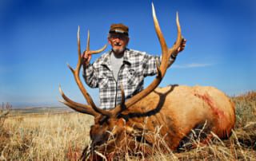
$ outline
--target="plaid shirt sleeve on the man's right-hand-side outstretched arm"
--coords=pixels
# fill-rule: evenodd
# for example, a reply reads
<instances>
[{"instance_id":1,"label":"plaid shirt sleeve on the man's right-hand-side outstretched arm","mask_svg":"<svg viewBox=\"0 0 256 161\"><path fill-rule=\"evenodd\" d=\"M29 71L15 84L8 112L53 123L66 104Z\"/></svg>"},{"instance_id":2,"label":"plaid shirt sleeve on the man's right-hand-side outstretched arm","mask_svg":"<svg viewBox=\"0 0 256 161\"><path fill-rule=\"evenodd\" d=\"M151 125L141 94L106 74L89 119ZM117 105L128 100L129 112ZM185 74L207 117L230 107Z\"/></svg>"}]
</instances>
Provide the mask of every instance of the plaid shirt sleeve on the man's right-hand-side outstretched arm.
<instances>
[{"instance_id":1,"label":"plaid shirt sleeve on the man's right-hand-side outstretched arm","mask_svg":"<svg viewBox=\"0 0 256 161\"><path fill-rule=\"evenodd\" d=\"M161 58L162 57L152 56L149 54L145 55L144 60L142 61L144 77L154 76L155 74L158 73L157 63L160 64ZM174 63L175 60L176 60L176 57L170 57L168 68Z\"/></svg>"}]
</instances>

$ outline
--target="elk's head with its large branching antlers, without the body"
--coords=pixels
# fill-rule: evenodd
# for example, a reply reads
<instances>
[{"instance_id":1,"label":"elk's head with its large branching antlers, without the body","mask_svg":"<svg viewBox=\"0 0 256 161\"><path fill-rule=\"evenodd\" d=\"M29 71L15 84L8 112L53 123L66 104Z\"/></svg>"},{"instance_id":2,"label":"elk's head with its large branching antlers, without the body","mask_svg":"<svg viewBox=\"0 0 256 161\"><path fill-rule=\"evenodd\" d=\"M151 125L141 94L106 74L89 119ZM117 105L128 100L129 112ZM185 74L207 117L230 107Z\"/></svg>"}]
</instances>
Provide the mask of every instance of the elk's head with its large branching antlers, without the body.
<instances>
[{"instance_id":1,"label":"elk's head with its large branching antlers, without the body","mask_svg":"<svg viewBox=\"0 0 256 161\"><path fill-rule=\"evenodd\" d=\"M160 42L161 48L162 48L162 61L160 65L158 65L158 74L155 77L154 81L145 89L142 90L142 92L139 92L137 95L130 98L130 100L125 100L125 94L124 90L122 88L122 103L116 106L115 108L111 110L103 110L102 108L98 108L95 104L88 92L86 91L86 88L82 85L82 81L79 77L79 71L82 66L82 58L81 58L81 49L80 49L80 37L79 37L79 27L78 27L78 65L76 69L72 69L69 66L70 70L74 74L74 79L78 84L78 88L82 92L82 95L85 97L88 104L80 104L78 102L74 102L73 100L70 100L64 92L62 92L62 89L59 88L59 91L62 94L62 100L63 104L66 104L70 108L74 109L77 112L82 112L91 116L94 116L94 125L90 128L90 138L92 139L93 146L101 145L102 143L106 143L110 138L119 139L121 140L122 135L124 135L124 132L130 132L132 131L132 128L130 126L127 126L126 120L122 118L122 113L129 111L129 108L137 103L139 100L142 100L145 96L147 96L150 92L153 92L155 88L158 87L158 84L162 81L162 78L166 74L166 69L169 67L169 60L171 54L175 53L178 49L178 47L182 43L182 33L181 33L181 27L179 25L178 21L178 14L176 16L176 23L178 27L178 36L176 43L173 45L172 48L168 48L166 45L165 38L162 35L162 31L160 29L160 26L158 24L158 19L156 17L155 11L154 11L154 5L152 4L152 12L153 12L153 19L154 19L154 28L158 35L158 40ZM90 50L90 35L88 32L88 38L87 38L87 47L86 50ZM106 49L106 45L99 50L91 51L90 53L100 53L104 49Z\"/></svg>"}]
</instances>

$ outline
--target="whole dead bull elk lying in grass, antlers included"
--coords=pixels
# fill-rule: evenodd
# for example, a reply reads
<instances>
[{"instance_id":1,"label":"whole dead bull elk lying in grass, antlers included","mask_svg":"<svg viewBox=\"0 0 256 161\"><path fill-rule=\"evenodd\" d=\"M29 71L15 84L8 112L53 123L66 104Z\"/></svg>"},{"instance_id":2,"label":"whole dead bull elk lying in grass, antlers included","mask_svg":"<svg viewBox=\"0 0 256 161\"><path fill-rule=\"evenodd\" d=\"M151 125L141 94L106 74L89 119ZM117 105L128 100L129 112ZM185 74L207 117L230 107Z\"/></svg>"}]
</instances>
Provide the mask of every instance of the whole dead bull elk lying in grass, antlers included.
<instances>
[{"instance_id":1,"label":"whole dead bull elk lying in grass, antlers included","mask_svg":"<svg viewBox=\"0 0 256 161\"><path fill-rule=\"evenodd\" d=\"M178 36L176 43L169 49L158 24L153 4L152 12L154 28L162 49L158 74L147 88L129 100L125 99L122 89L122 103L110 110L98 108L80 80L79 71L83 60L78 26L78 64L76 69L68 66L87 104L70 100L61 88L59 90L64 99L63 104L77 112L94 116L94 125L90 128L90 159L99 157L95 151L106 156L113 156L122 150L130 153L138 150L145 154L153 154L156 145L162 149L177 150L186 147L193 137L202 138L202 143L207 143L213 135L226 139L234 128L234 103L217 88L183 85L158 88L169 67L170 55L182 43L182 33L177 14ZM91 53L101 53L104 49L106 45ZM89 32L86 50L90 50ZM155 135L156 132L158 136ZM86 155L85 151L82 159Z\"/></svg>"}]
</instances>

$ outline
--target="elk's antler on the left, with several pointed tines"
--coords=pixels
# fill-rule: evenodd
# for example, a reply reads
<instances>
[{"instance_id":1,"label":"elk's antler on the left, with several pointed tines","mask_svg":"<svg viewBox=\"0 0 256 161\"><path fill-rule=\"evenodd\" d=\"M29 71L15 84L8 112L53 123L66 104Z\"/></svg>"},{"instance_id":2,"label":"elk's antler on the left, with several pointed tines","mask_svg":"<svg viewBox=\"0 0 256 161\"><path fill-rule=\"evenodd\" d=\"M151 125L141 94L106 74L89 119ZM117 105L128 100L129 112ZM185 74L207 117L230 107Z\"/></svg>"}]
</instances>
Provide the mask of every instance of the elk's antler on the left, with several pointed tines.
<instances>
[{"instance_id":1,"label":"elk's antler on the left, with several pointed tines","mask_svg":"<svg viewBox=\"0 0 256 161\"><path fill-rule=\"evenodd\" d=\"M88 31L88 37L87 37L87 46L86 46L86 50L90 51L91 54L94 53L101 53L104 49L106 49L106 45L104 45L102 47L102 49L98 49L95 51L90 51L90 33ZM94 104L94 101L91 99L89 93L86 91L86 88L83 86L82 81L80 80L79 77L79 73L80 73L80 69L82 66L82 57L81 57L81 45L80 45L80 27L78 26L78 64L76 66L76 69L72 69L70 67L70 65L68 65L68 67L70 68L71 72L74 75L74 80L76 81L76 83L78 84L78 88L80 89L80 91L82 92L82 95L86 98L86 101L88 104L90 105L86 105L86 104L79 104L77 102L74 102L73 100L70 100L65 94L64 92L62 92L62 88L59 87L59 92L62 94L62 98L64 99L64 101L61 100L61 102L63 104L66 104L67 106L69 106L70 108L78 111L78 112L82 112L82 113L86 113L86 114L90 114L92 116L98 116L98 113L95 109L98 109L96 107L96 105ZM95 112L95 111L96 112Z\"/></svg>"}]
</instances>

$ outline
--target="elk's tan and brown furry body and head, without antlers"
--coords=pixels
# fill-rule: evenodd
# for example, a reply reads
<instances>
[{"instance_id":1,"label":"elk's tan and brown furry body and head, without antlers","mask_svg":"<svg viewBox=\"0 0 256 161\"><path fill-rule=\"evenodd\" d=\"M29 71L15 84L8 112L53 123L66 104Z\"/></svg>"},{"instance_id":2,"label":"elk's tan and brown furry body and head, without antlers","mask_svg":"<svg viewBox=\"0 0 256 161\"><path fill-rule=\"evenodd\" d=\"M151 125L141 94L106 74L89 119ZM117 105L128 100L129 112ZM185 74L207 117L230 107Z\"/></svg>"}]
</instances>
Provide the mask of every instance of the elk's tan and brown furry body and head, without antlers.
<instances>
[{"instance_id":1,"label":"elk's tan and brown furry body and head, without antlers","mask_svg":"<svg viewBox=\"0 0 256 161\"><path fill-rule=\"evenodd\" d=\"M94 150L111 156L134 150L152 154L154 148L165 150L164 144L177 150L184 147L191 130L197 128L205 132L202 142L211 138L210 132L225 139L230 136L234 122L234 104L217 88L178 85L157 88L118 118L95 118L90 130L91 159Z\"/></svg>"}]
</instances>

